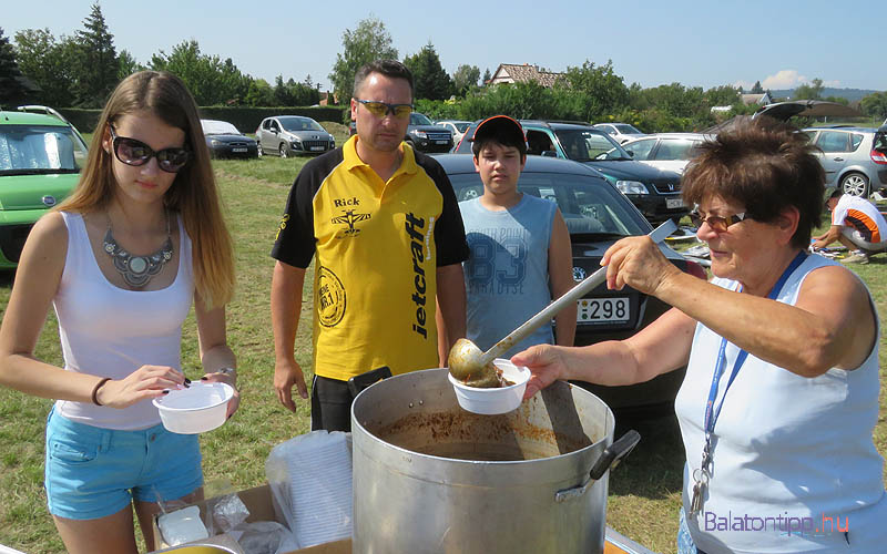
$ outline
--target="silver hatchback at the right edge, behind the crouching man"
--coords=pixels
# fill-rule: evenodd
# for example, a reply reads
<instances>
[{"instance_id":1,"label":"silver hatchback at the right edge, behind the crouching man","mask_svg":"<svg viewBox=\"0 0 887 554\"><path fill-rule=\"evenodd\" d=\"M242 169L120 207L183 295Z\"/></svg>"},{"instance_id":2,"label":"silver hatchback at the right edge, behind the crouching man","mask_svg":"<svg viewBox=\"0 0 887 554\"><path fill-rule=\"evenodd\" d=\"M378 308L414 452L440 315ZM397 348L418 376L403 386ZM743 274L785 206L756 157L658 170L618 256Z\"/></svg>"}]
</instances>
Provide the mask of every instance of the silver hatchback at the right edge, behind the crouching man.
<instances>
[{"instance_id":1,"label":"silver hatchback at the right edge, behind the crouching man","mask_svg":"<svg viewBox=\"0 0 887 554\"><path fill-rule=\"evenodd\" d=\"M887 186L887 172L879 162L881 156L874 148L874 129L808 127L803 132L819 148L817 156L825 170L827 185L840 187L844 194L866 198Z\"/></svg>"}]
</instances>

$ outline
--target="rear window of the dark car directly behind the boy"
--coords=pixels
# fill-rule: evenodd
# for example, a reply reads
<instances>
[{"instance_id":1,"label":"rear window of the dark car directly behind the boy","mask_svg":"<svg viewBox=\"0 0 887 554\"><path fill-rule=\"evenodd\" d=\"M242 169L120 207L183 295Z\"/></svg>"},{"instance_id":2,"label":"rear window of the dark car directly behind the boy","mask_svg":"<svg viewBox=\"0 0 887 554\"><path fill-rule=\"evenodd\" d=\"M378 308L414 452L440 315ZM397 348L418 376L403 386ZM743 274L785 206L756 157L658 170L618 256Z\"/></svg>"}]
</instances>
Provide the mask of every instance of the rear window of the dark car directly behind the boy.
<instances>
[{"instance_id":1,"label":"rear window of the dark car directly behind the boy","mask_svg":"<svg viewBox=\"0 0 887 554\"><path fill-rule=\"evenodd\" d=\"M459 202L483 194L477 173L449 175ZM571 235L592 235L585 239L643 235L648 230L631 203L605 183L569 173L522 173L518 189L558 204Z\"/></svg>"}]
</instances>

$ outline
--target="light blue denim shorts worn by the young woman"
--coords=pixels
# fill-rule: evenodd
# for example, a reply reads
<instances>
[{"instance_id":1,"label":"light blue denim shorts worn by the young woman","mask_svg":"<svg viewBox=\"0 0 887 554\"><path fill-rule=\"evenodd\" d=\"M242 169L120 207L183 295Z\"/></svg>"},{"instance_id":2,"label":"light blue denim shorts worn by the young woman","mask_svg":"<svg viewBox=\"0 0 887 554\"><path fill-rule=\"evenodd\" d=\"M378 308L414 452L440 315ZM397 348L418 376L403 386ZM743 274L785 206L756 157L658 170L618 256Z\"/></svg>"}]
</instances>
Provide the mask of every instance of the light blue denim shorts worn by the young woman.
<instances>
[{"instance_id":1,"label":"light blue denim shorts worn by the young woman","mask_svg":"<svg viewBox=\"0 0 887 554\"><path fill-rule=\"evenodd\" d=\"M203 485L196 434L176 434L162 424L115 431L47 418L47 501L51 514L95 520L126 507L133 499L181 499Z\"/></svg>"}]
</instances>

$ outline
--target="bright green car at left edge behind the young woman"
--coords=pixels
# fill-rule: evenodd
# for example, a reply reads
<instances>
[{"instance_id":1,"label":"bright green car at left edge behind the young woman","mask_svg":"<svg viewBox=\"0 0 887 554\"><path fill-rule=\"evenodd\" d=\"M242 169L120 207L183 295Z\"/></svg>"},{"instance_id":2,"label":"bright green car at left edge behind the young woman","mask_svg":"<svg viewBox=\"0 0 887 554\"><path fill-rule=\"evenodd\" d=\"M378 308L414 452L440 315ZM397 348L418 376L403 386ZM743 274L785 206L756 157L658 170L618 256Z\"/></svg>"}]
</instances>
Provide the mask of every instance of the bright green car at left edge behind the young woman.
<instances>
[{"instance_id":1,"label":"bright green car at left edge behind the young woman","mask_svg":"<svg viewBox=\"0 0 887 554\"><path fill-rule=\"evenodd\" d=\"M55 110L0 110L0 269L18 266L31 227L73 191L85 163L85 141Z\"/></svg>"}]
</instances>

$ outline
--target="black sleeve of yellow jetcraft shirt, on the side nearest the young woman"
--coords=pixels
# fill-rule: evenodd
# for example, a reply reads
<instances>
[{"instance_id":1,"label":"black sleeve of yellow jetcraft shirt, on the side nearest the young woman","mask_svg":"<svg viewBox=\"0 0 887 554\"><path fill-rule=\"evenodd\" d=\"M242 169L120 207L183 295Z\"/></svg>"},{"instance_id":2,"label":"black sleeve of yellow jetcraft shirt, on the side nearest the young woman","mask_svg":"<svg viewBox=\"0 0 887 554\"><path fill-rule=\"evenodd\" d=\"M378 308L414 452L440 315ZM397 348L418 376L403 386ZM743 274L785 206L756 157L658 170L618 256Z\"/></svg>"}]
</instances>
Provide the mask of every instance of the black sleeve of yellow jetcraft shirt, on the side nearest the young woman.
<instances>
[{"instance_id":1,"label":"black sleeve of yellow jetcraft shirt, on the side nearest the young woman","mask_svg":"<svg viewBox=\"0 0 887 554\"><path fill-rule=\"evenodd\" d=\"M336 148L305 164L289 189L286 208L277 228L271 256L293 267L307 268L314 257L314 195L324 179L341 162Z\"/></svg>"}]
</instances>

